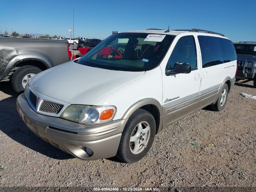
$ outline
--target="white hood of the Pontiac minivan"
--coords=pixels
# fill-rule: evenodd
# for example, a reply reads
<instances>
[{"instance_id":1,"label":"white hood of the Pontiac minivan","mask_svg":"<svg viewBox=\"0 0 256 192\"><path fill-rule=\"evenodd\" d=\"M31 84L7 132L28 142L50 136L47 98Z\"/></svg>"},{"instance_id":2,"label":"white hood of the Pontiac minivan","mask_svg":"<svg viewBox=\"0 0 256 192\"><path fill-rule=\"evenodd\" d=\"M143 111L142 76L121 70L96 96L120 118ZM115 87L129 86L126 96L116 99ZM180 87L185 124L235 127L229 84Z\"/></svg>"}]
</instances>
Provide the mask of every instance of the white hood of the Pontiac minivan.
<instances>
[{"instance_id":1,"label":"white hood of the Pontiac minivan","mask_svg":"<svg viewBox=\"0 0 256 192\"><path fill-rule=\"evenodd\" d=\"M105 94L144 74L145 71L114 71L70 61L38 73L29 86L70 104L92 105Z\"/></svg>"}]
</instances>

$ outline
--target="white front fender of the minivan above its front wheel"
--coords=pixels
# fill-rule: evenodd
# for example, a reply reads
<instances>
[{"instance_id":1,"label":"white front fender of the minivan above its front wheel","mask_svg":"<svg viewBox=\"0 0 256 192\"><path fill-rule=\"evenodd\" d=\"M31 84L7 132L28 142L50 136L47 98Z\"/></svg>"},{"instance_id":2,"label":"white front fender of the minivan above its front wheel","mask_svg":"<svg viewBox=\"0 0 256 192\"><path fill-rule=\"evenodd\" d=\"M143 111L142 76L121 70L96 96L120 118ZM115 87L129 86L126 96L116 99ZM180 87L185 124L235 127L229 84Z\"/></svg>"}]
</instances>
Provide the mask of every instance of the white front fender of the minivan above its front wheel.
<instances>
[{"instance_id":1,"label":"white front fender of the minivan above its front wheel","mask_svg":"<svg viewBox=\"0 0 256 192\"><path fill-rule=\"evenodd\" d=\"M162 103L163 86L161 76L162 72L159 66L146 71L140 78L109 92L93 105L116 106L117 112L113 120L117 120L121 119L130 106L141 99L154 98L159 103Z\"/></svg>"}]
</instances>

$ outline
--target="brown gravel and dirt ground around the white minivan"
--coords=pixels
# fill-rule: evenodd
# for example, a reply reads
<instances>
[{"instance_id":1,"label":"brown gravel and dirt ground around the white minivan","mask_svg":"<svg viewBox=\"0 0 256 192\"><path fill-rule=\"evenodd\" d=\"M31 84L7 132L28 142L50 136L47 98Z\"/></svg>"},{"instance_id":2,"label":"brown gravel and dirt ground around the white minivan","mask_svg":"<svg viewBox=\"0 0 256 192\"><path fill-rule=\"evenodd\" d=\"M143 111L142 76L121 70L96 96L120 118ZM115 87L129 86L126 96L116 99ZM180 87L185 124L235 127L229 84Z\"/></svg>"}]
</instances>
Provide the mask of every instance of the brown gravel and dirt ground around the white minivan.
<instances>
[{"instance_id":1,"label":"brown gravel and dirt ground around the white minivan","mask_svg":"<svg viewBox=\"0 0 256 192\"><path fill-rule=\"evenodd\" d=\"M9 87L0 83L0 186L256 187L256 100L240 95L256 95L251 81L236 83L223 111L206 107L165 127L134 164L82 161L46 143L20 119Z\"/></svg>"}]
</instances>

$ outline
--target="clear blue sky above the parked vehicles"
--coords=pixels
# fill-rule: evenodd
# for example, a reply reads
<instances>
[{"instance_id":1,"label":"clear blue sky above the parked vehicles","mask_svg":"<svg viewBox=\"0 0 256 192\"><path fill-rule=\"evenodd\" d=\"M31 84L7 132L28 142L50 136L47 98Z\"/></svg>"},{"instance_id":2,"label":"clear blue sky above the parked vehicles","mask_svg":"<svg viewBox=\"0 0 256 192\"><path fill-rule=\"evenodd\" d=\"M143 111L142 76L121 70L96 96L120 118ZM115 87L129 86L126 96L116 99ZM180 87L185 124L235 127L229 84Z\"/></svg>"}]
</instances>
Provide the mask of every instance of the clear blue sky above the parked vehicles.
<instances>
[{"instance_id":1,"label":"clear blue sky above the parked vehicles","mask_svg":"<svg viewBox=\"0 0 256 192\"><path fill-rule=\"evenodd\" d=\"M256 0L0 0L0 29L19 34L39 33L106 38L112 31L147 28L205 29L232 41L256 41ZM72 35L73 36L73 35Z\"/></svg>"}]
</instances>

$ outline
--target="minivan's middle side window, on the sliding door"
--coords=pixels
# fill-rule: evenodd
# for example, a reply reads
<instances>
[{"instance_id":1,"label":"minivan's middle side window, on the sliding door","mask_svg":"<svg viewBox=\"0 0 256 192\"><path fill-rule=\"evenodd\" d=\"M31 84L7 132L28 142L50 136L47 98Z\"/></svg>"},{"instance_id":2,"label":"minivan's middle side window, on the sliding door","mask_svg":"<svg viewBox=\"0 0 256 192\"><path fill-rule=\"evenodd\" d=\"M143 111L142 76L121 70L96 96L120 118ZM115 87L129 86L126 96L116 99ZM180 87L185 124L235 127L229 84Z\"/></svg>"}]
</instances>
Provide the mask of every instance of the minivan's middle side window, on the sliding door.
<instances>
[{"instance_id":1,"label":"minivan's middle side window, on the sliding door","mask_svg":"<svg viewBox=\"0 0 256 192\"><path fill-rule=\"evenodd\" d=\"M203 68L222 64L224 62L221 44L218 39L218 37L198 36Z\"/></svg>"}]
</instances>

